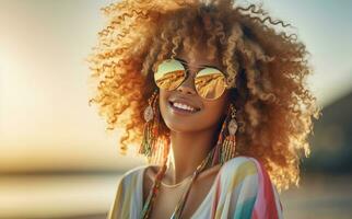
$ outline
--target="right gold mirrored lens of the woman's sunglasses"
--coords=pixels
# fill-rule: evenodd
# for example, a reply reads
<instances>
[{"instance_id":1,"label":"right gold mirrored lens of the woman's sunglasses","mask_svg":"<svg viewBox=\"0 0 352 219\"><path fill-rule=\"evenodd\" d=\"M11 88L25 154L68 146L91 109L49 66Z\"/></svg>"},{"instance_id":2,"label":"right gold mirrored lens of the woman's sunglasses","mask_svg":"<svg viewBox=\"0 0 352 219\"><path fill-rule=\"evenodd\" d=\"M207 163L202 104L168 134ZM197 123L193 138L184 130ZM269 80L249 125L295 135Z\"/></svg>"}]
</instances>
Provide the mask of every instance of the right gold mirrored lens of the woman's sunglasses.
<instances>
[{"instance_id":1,"label":"right gold mirrored lens of the woman's sunglasses","mask_svg":"<svg viewBox=\"0 0 352 219\"><path fill-rule=\"evenodd\" d=\"M215 100L225 90L225 76L215 68L206 68L197 73L195 85L200 96L207 100Z\"/></svg>"}]
</instances>

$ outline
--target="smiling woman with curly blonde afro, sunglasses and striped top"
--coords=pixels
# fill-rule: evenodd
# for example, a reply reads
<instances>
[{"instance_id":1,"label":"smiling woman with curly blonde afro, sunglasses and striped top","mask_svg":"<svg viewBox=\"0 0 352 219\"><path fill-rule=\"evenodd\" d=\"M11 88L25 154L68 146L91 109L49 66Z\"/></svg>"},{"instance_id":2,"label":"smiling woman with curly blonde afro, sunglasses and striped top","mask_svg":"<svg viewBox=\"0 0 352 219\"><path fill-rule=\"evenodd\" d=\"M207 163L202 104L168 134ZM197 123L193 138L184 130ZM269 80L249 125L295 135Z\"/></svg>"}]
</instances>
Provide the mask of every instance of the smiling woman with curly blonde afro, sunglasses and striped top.
<instances>
[{"instance_id":1,"label":"smiling woman with curly blonde afro, sunglasses and striped top","mask_svg":"<svg viewBox=\"0 0 352 219\"><path fill-rule=\"evenodd\" d=\"M125 0L90 58L91 102L148 165L118 183L108 218L283 218L316 100L305 46L232 0Z\"/></svg>"}]
</instances>

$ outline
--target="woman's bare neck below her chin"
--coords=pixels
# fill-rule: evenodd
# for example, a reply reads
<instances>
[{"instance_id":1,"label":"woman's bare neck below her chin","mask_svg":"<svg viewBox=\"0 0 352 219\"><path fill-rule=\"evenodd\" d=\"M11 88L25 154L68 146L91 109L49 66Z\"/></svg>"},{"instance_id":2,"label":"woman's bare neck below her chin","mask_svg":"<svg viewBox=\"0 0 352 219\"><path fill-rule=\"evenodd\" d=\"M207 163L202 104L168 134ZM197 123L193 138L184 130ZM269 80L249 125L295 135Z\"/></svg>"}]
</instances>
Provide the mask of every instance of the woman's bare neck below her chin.
<instances>
[{"instance_id":1,"label":"woman's bare neck below her chin","mask_svg":"<svg viewBox=\"0 0 352 219\"><path fill-rule=\"evenodd\" d=\"M176 184L191 175L214 147L215 130L171 131L171 154L164 181Z\"/></svg>"}]
</instances>

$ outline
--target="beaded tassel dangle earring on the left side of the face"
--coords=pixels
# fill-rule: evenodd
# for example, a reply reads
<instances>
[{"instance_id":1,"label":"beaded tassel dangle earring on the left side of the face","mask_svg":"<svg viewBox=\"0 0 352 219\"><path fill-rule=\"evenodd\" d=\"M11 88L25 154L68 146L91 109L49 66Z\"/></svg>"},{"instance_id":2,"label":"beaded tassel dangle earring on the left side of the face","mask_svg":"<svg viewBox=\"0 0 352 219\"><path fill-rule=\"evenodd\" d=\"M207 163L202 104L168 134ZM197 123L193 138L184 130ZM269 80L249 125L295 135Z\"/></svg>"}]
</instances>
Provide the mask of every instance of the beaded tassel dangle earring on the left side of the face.
<instances>
[{"instance_id":1,"label":"beaded tassel dangle earring on the left side of the face","mask_svg":"<svg viewBox=\"0 0 352 219\"><path fill-rule=\"evenodd\" d=\"M139 149L139 153L148 157L151 162L152 157L155 154L157 130L159 130L159 111L157 111L157 91L154 91L152 96L148 100L148 106L144 110L144 129L143 140Z\"/></svg>"}]
</instances>

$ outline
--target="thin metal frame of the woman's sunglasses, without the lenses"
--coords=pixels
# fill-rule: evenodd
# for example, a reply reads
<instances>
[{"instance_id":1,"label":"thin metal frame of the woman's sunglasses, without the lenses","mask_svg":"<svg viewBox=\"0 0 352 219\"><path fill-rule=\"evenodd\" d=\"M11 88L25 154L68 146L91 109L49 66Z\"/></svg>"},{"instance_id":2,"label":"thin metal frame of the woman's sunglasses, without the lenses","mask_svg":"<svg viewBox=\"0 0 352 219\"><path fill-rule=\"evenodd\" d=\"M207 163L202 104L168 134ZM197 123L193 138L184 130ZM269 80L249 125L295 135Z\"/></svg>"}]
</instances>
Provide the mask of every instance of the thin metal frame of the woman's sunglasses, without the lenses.
<instances>
[{"instance_id":1,"label":"thin metal frame of the woman's sunglasses, without the lenses","mask_svg":"<svg viewBox=\"0 0 352 219\"><path fill-rule=\"evenodd\" d=\"M187 79L188 79L188 77L190 77L190 73L189 73L189 68L188 67L197 67L198 68L198 70L197 70L197 72L195 73L195 76L192 77L192 79L193 79L193 85L195 85L195 88L197 88L196 87L196 78L197 78L197 74L200 72L200 71L202 71L202 70L204 70L204 69L207 69L207 68L210 68L210 69L216 69L218 71L220 71L222 74L223 74L223 77L224 77L224 83L225 83L225 85L224 85L224 90L223 90L223 92L218 96L218 97L215 97L215 99L206 99L206 97L203 97L202 95L200 95L199 93L198 93L198 90L196 89L196 92L197 92L197 94L200 96L200 97L202 97L203 100L207 100L207 101L214 101L214 100L218 100L218 99L220 99L223 94L224 94L224 92L225 92L225 90L228 90L228 89L232 89L232 88L235 88L234 85L232 85L232 83L233 83L233 78L231 78L231 77L228 77L226 73L224 73L222 70L220 70L218 67L214 67L214 66L204 66L204 67L199 67L199 66L190 66L190 65L188 65L187 62L185 62L185 61L183 61L183 60L180 60L180 59L178 59L178 58L168 58L168 59L164 59L163 61L161 61L159 65L157 65L157 68L159 68L159 66L161 65L161 64L163 64L164 61L167 61L167 60L175 60L175 61L178 61L178 62L180 62L181 65L183 65L183 67L185 68L185 73L186 73L186 77L183 79L183 81L175 88L175 89L173 89L173 90L167 90L167 91L175 91L177 88L179 88ZM156 68L156 69L157 69ZM155 81L155 84L157 85L157 83L156 83L156 80L155 80L155 77L154 77L154 81ZM160 88L159 85L157 85L157 88ZM160 88L160 89L162 89L162 88Z\"/></svg>"}]
</instances>

